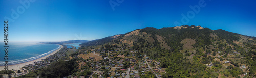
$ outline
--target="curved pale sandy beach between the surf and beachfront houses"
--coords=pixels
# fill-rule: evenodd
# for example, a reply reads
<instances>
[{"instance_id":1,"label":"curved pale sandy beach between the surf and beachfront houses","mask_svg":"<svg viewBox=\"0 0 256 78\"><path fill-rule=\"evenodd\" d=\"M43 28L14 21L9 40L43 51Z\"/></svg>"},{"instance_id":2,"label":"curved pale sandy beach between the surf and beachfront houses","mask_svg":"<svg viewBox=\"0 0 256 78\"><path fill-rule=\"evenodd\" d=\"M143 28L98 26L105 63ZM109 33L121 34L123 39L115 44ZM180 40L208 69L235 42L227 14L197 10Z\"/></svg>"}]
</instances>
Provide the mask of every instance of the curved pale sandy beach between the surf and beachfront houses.
<instances>
[{"instance_id":1,"label":"curved pale sandy beach between the surf and beachfront houses","mask_svg":"<svg viewBox=\"0 0 256 78\"><path fill-rule=\"evenodd\" d=\"M55 51L53 51L51 54L48 54L48 55L46 55L44 57L38 58L38 59L33 60L33 61L29 61L29 62L25 62L25 63L20 63L20 64L16 64L16 65L8 65L8 70L12 70L12 69L13 70L19 70L20 68L22 68L22 67L24 67L24 66L26 66L28 64L34 64L34 62L41 61L42 59L45 59L46 57L57 53L61 48L63 48L62 45L60 45L60 48L55 50ZM5 68L4 66L0 66L0 70L4 70L4 68Z\"/></svg>"}]
</instances>

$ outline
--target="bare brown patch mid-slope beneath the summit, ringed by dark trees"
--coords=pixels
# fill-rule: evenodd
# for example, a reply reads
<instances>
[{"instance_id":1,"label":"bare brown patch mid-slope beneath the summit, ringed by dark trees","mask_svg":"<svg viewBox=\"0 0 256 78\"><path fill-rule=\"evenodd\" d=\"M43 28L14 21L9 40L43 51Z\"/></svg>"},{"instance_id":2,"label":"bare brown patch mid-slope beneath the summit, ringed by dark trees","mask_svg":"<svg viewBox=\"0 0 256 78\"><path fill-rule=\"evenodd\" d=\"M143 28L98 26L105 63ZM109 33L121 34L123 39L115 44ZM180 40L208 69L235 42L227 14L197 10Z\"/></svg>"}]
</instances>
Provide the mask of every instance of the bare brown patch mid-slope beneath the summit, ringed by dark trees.
<instances>
[{"instance_id":1,"label":"bare brown patch mid-slope beneath the summit, ringed by dark trees","mask_svg":"<svg viewBox=\"0 0 256 78\"><path fill-rule=\"evenodd\" d=\"M183 49L192 49L193 48L192 45L195 44L196 41L191 38L186 38L182 40L180 43L184 44Z\"/></svg>"}]
</instances>

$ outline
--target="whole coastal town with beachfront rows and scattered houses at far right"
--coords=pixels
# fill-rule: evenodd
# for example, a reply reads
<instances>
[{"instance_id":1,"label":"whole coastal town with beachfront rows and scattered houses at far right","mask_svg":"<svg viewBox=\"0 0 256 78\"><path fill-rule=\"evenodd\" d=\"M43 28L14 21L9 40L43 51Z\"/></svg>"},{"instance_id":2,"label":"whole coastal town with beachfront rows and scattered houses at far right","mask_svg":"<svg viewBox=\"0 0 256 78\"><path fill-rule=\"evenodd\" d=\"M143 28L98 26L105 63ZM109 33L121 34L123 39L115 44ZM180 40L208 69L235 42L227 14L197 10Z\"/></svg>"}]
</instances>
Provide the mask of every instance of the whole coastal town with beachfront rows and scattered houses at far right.
<instances>
[{"instance_id":1,"label":"whole coastal town with beachfront rows and scattered houses at far right","mask_svg":"<svg viewBox=\"0 0 256 78\"><path fill-rule=\"evenodd\" d=\"M29 72L34 72L41 70L44 67L48 67L51 63L61 60L71 60L77 59L77 72L76 75L69 75L71 78L85 78L85 77L145 77L145 76L154 76L157 78L162 77L162 74L166 73L166 68L162 68L161 61L156 61L148 57L147 55L137 55L138 50L132 50L130 47L124 46L112 46L100 47L100 48L82 48L76 50L75 47L67 48L66 45L62 45L63 48L60 49L54 55L51 55L41 61L34 62L34 64L29 64L22 67L20 70L12 70L14 73L4 74L3 77L18 77L21 75L26 75ZM70 53L70 51L73 52ZM218 54L222 52L219 51ZM68 54L68 55L67 55ZM208 54L209 56L215 57ZM234 54L229 54L234 55ZM240 55L240 54L235 54ZM218 58L222 58L224 55L216 55ZM229 57L234 58L234 57ZM240 59L240 58L238 58ZM215 58L214 60L220 61L220 59ZM230 60L223 60L221 63L225 66L233 65ZM207 68L216 67L216 64L206 64ZM247 66L242 65L240 69L245 70ZM84 75L80 73L85 73L90 71L89 74ZM247 75L247 73L240 75L241 77ZM38 76L39 77L39 76Z\"/></svg>"}]
</instances>

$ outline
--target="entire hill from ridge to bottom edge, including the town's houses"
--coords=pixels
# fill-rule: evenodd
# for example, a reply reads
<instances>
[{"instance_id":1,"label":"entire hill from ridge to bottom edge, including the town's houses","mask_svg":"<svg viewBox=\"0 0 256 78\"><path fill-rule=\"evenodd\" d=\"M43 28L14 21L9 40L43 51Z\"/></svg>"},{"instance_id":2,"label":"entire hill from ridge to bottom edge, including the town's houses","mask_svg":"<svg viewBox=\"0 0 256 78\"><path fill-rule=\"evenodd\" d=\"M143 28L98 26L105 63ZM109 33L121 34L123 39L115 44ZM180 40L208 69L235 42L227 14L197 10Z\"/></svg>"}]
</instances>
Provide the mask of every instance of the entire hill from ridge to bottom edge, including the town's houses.
<instances>
[{"instance_id":1,"label":"entire hill from ridge to bottom edge, including the town's houses","mask_svg":"<svg viewBox=\"0 0 256 78\"><path fill-rule=\"evenodd\" d=\"M144 28L80 46L76 53L30 74L40 77L121 77L120 74L142 78L256 77L255 37L221 29L194 25Z\"/></svg>"}]
</instances>

